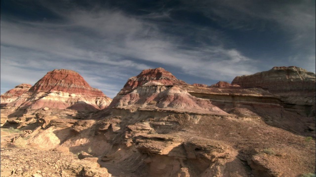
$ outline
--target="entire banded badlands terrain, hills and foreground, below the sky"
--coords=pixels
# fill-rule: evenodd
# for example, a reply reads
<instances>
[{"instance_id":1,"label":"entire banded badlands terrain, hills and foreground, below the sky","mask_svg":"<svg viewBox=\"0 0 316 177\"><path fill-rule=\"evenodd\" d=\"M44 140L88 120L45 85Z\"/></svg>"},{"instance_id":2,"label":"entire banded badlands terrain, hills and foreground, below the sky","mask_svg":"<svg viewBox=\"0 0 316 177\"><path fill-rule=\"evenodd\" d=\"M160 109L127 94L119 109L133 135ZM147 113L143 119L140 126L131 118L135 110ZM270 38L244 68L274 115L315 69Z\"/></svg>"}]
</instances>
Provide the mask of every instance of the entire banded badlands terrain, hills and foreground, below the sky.
<instances>
[{"instance_id":1,"label":"entire banded badlands terrain, hills and foreground, below the sky","mask_svg":"<svg viewBox=\"0 0 316 177\"><path fill-rule=\"evenodd\" d=\"M1 125L3 177L301 177L315 173L315 74L207 86L146 69L112 101L54 70L1 95Z\"/></svg>"}]
</instances>

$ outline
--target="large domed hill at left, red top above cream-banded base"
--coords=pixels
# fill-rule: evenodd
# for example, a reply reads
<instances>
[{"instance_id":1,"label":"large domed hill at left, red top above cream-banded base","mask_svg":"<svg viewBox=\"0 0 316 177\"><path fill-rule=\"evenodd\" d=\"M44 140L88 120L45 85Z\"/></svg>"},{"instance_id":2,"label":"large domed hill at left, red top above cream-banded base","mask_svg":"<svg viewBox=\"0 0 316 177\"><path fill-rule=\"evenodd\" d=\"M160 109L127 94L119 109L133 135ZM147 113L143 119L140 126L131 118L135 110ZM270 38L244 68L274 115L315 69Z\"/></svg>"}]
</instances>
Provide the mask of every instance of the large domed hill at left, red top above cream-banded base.
<instances>
[{"instance_id":1,"label":"large domed hill at left, red top above cream-banded base","mask_svg":"<svg viewBox=\"0 0 316 177\"><path fill-rule=\"evenodd\" d=\"M101 90L91 88L77 72L55 69L6 107L22 110L46 107L96 111L106 108L111 101Z\"/></svg>"}]
</instances>

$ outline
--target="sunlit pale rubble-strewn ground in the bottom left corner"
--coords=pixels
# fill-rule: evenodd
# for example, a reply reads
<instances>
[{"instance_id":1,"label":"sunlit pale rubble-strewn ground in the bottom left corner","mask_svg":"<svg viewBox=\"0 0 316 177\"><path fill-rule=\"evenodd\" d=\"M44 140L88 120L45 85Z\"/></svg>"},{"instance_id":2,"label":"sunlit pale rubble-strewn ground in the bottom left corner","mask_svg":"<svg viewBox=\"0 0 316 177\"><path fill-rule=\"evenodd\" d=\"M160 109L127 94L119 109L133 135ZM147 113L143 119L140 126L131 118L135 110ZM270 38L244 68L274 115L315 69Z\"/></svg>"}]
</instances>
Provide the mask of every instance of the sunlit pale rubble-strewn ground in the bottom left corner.
<instances>
[{"instance_id":1,"label":"sunlit pale rubble-strewn ground in the bottom left corner","mask_svg":"<svg viewBox=\"0 0 316 177\"><path fill-rule=\"evenodd\" d=\"M11 143L17 135L1 128L1 177L111 177L98 158L82 159L84 152L74 154L68 148L32 148L23 138Z\"/></svg>"}]
</instances>

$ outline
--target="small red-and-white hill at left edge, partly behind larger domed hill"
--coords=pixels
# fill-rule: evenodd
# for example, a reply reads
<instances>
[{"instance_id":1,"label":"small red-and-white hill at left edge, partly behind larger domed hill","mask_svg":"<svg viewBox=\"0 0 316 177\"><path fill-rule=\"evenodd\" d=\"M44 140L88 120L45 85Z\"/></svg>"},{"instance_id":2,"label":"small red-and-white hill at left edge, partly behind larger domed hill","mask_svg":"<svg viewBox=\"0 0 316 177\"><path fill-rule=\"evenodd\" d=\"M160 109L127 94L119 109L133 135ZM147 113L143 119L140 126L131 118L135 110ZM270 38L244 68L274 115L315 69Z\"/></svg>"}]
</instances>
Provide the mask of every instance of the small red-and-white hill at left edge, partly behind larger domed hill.
<instances>
[{"instance_id":1,"label":"small red-and-white hill at left edge, partly behind larger domed hill","mask_svg":"<svg viewBox=\"0 0 316 177\"><path fill-rule=\"evenodd\" d=\"M10 89L6 91L5 93L1 94L1 105L0 107L4 107L7 104L15 101L19 96L21 96L23 93L26 93L29 91L29 89L32 87L30 84L20 84L18 86L15 86L14 89Z\"/></svg>"}]
</instances>

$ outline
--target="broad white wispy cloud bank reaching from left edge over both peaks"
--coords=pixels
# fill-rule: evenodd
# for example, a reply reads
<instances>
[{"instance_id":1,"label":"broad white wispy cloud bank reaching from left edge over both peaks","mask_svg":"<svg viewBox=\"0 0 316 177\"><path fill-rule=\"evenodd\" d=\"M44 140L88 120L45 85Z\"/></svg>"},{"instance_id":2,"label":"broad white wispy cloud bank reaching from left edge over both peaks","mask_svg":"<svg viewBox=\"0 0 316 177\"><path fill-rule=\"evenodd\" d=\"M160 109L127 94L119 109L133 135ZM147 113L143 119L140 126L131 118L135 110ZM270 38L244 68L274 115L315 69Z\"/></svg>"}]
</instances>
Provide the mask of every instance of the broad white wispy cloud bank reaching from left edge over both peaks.
<instances>
[{"instance_id":1,"label":"broad white wispy cloud bank reaching from left edge over both peaks","mask_svg":"<svg viewBox=\"0 0 316 177\"><path fill-rule=\"evenodd\" d=\"M162 33L156 24L120 11L58 13L67 23L1 20L1 68L6 68L1 69L1 81L35 83L36 79L28 77L40 78L36 74L39 69L67 68L82 73L91 86L113 97L128 77L155 67L147 61L216 80L233 79L255 70L245 63L251 63L251 59L234 49L204 46L192 50L189 45L183 49L184 44ZM16 70L29 74L14 74Z\"/></svg>"}]
</instances>

